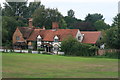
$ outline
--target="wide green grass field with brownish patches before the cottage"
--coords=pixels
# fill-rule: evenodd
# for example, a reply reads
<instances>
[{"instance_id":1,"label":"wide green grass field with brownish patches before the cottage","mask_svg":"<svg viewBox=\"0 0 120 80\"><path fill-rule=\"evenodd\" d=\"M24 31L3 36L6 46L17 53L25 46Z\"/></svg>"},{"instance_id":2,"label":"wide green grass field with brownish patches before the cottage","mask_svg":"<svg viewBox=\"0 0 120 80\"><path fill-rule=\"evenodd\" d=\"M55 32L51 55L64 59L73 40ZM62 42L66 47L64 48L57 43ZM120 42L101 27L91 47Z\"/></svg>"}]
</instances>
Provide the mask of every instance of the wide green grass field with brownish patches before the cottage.
<instances>
[{"instance_id":1,"label":"wide green grass field with brownish patches before the cottage","mask_svg":"<svg viewBox=\"0 0 120 80\"><path fill-rule=\"evenodd\" d=\"M42 54L2 54L3 78L117 78L118 60Z\"/></svg>"}]
</instances>

